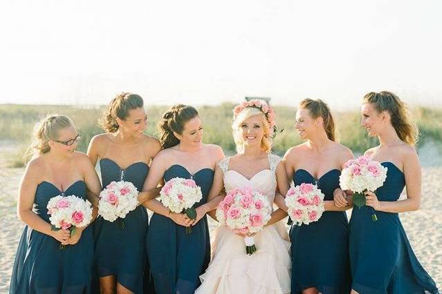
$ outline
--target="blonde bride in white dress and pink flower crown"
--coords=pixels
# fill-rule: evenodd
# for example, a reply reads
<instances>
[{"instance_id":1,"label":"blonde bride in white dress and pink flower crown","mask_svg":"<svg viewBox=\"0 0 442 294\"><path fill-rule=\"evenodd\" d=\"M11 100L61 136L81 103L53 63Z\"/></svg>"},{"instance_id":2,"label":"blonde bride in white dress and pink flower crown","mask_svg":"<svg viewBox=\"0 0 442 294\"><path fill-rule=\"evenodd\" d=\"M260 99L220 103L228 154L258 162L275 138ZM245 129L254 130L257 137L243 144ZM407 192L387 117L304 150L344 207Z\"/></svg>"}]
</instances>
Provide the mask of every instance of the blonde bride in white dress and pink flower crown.
<instances>
[{"instance_id":1,"label":"blonde bride in white dress and pink flower crown","mask_svg":"<svg viewBox=\"0 0 442 294\"><path fill-rule=\"evenodd\" d=\"M233 112L238 153L219 162L209 197L216 197L223 186L227 193L250 187L264 192L273 203L277 186L281 190L288 186L280 157L270 153L274 112L259 100L243 102ZM277 197L283 199L279 193ZM282 210L272 213L264 230L255 235L257 251L252 255L246 255L246 236L219 226L212 244L212 261L200 276L202 284L195 293L290 293L290 244L284 225L275 224L285 216Z\"/></svg>"}]
</instances>

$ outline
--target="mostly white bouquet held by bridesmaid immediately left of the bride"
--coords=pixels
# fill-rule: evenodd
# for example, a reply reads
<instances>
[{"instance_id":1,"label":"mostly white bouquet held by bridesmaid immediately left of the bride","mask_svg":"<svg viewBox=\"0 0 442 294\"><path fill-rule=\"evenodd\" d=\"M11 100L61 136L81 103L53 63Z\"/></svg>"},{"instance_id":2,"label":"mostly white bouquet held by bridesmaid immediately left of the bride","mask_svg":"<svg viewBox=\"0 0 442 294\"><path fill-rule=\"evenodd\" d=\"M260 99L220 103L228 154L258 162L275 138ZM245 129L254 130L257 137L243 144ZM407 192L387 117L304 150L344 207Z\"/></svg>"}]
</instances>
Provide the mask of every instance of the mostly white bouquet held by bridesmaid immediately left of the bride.
<instances>
[{"instance_id":1,"label":"mostly white bouquet held by bridesmaid immediately left of the bride","mask_svg":"<svg viewBox=\"0 0 442 294\"><path fill-rule=\"evenodd\" d=\"M174 177L169 179L160 190L160 202L173 213L185 213L190 219L196 219L194 204L203 198L201 188L196 186L193 179ZM192 233L192 228L187 226L186 233Z\"/></svg>"}]
</instances>

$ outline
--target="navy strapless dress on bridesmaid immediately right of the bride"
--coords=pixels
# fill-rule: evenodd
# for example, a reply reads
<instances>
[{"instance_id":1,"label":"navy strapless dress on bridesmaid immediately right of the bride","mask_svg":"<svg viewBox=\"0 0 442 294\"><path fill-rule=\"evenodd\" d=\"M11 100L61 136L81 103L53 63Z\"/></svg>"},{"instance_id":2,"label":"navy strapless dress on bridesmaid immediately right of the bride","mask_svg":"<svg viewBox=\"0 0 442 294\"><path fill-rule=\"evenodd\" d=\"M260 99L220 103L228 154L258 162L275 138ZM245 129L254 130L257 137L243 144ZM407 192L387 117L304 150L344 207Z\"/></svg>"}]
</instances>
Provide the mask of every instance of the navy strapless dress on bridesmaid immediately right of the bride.
<instances>
[{"instance_id":1,"label":"navy strapless dress on bridesmaid immediately right of the bride","mask_svg":"<svg viewBox=\"0 0 442 294\"><path fill-rule=\"evenodd\" d=\"M295 185L316 184L325 200L333 200L339 187L340 170L333 169L315 179L304 169L293 175ZM291 293L315 287L322 294L350 292L349 222L344 211L324 211L317 222L293 225Z\"/></svg>"}]
</instances>

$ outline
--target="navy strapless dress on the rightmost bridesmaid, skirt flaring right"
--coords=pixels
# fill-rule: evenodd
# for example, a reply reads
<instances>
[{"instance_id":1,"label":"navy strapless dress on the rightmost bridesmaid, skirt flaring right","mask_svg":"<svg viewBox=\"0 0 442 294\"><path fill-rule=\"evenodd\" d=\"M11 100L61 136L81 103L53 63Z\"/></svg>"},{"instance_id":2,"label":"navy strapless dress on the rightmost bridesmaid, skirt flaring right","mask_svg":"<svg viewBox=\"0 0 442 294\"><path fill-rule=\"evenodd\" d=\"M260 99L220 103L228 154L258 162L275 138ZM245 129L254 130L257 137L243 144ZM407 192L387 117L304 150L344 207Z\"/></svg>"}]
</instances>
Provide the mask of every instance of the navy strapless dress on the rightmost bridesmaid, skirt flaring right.
<instances>
[{"instance_id":1,"label":"navy strapless dress on the rightmost bridesmaid, skirt flaring right","mask_svg":"<svg viewBox=\"0 0 442 294\"><path fill-rule=\"evenodd\" d=\"M396 201L405 186L405 176L392 162L384 185L376 190L379 201ZM362 294L439 293L436 284L414 255L398 213L376 211L371 221L368 206L353 208L350 219L352 288Z\"/></svg>"}]
</instances>

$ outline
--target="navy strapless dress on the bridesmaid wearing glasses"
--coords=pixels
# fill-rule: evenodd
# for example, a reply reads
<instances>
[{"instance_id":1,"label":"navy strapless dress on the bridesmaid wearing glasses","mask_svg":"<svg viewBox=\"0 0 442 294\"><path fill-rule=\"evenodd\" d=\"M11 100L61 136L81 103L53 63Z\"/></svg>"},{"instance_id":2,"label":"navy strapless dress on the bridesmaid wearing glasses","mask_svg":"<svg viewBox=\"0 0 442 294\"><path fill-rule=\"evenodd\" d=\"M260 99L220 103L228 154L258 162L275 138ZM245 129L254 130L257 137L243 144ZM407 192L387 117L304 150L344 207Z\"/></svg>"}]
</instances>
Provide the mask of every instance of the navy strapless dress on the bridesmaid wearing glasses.
<instances>
[{"instance_id":1,"label":"navy strapless dress on the bridesmaid wearing glasses","mask_svg":"<svg viewBox=\"0 0 442 294\"><path fill-rule=\"evenodd\" d=\"M86 185L77 181L64 193L49 182L37 186L34 211L50 223L46 206L57 195L75 195L86 199ZM24 228L12 268L10 292L14 294L91 293L93 235L86 227L77 244L60 249L54 237Z\"/></svg>"}]
</instances>

